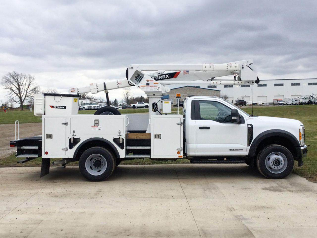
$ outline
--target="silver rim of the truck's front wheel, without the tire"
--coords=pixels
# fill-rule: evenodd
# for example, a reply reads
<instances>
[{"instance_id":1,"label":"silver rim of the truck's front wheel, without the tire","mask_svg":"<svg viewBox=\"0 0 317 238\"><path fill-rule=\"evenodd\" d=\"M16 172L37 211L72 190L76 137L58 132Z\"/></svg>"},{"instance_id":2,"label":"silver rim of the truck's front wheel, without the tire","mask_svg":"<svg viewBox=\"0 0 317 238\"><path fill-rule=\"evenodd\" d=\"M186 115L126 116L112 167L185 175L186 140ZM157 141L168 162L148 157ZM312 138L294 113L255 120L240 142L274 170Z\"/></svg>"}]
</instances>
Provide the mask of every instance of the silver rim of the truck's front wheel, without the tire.
<instances>
[{"instance_id":1,"label":"silver rim of the truck's front wheel, without the tire","mask_svg":"<svg viewBox=\"0 0 317 238\"><path fill-rule=\"evenodd\" d=\"M287 158L281 152L273 152L266 156L265 166L273 174L280 174L287 167Z\"/></svg>"}]
</instances>

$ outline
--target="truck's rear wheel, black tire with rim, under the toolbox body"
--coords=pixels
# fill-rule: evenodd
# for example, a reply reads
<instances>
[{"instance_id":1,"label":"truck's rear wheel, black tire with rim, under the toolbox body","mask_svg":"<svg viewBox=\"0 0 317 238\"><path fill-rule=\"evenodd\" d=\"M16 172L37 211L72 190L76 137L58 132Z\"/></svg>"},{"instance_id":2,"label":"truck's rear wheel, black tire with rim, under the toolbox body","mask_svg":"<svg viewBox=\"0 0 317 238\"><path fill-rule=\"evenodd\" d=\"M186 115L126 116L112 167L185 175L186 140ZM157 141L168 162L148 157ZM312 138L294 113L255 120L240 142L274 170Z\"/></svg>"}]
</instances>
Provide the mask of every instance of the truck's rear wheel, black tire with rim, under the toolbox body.
<instances>
[{"instance_id":1,"label":"truck's rear wheel, black tire with rim, under the toolbox body","mask_svg":"<svg viewBox=\"0 0 317 238\"><path fill-rule=\"evenodd\" d=\"M93 163L93 161L95 160L95 158L97 158L97 162L98 162L98 158L102 158L102 160L104 159L106 163L103 163L104 167L102 167L101 162L99 162L96 166L100 166L102 168L100 168L98 172L98 169L93 168L93 165L91 165ZM90 165L90 166L89 166ZM81 174L90 181L103 181L105 179L107 179L113 172L114 168L115 168L115 158L113 157L113 154L102 147L92 147L87 149L80 157L79 159L79 170L81 172ZM98 167L99 168L99 167ZM102 170L104 170L102 172Z\"/></svg>"}]
</instances>

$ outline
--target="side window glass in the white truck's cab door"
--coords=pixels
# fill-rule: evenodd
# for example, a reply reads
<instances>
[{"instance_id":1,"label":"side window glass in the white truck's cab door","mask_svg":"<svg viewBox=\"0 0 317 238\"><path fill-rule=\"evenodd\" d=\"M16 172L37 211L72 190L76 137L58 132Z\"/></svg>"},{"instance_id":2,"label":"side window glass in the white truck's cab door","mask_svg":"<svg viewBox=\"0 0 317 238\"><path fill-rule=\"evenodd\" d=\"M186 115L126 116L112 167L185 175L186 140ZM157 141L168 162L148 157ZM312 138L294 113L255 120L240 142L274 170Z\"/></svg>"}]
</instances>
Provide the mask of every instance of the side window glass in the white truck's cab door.
<instances>
[{"instance_id":1,"label":"side window glass in the white truck's cab door","mask_svg":"<svg viewBox=\"0 0 317 238\"><path fill-rule=\"evenodd\" d=\"M231 109L220 102L199 101L200 119L230 122Z\"/></svg>"}]
</instances>

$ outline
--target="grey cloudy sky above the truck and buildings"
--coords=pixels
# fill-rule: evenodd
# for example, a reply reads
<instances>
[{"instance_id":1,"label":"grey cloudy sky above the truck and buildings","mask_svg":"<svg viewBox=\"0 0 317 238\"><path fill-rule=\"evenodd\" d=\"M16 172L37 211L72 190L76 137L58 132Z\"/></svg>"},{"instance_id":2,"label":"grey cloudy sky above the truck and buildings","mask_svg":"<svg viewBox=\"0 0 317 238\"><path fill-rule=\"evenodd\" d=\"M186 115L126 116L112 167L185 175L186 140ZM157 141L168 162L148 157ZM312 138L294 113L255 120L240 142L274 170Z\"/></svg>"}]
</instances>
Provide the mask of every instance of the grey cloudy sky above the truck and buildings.
<instances>
[{"instance_id":1,"label":"grey cloudy sky above the truck and buildings","mask_svg":"<svg viewBox=\"0 0 317 238\"><path fill-rule=\"evenodd\" d=\"M317 73L316 1L10 0L0 12L0 76L31 74L42 89L122 79L129 64L253 58L260 80Z\"/></svg>"}]
</instances>

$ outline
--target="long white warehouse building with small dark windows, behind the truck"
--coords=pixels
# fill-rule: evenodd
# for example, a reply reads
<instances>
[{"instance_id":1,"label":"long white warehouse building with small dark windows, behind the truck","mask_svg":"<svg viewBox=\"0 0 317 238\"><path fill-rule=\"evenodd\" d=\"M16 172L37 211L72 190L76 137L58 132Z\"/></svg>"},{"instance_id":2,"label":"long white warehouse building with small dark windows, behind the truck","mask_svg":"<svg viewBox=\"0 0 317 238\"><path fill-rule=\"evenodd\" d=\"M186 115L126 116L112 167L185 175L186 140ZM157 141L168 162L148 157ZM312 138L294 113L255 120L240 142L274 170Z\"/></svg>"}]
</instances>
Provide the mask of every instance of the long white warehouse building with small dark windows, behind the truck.
<instances>
[{"instance_id":1,"label":"long white warehouse building with small dark windows, behind the truck","mask_svg":"<svg viewBox=\"0 0 317 238\"><path fill-rule=\"evenodd\" d=\"M200 87L201 89L207 87L206 85L198 85L199 83L197 82L197 86L195 87ZM178 85L174 85L174 87L171 88L176 88L177 86ZM237 90L238 87L239 89ZM254 85L209 85L208 89L220 90L221 96L227 95L227 101L230 103L235 103L237 99L243 98L250 104L252 94L253 103L271 103L273 102L273 99L294 98L302 95L317 94L317 78L260 80L259 84ZM189 93L189 95L200 94L195 94L193 91L192 93ZM173 95L170 94L170 97L171 96Z\"/></svg>"}]
</instances>

